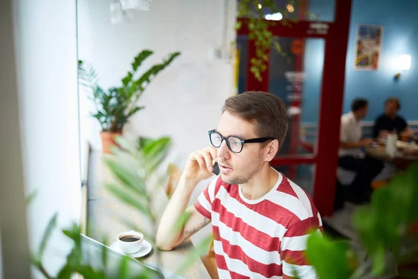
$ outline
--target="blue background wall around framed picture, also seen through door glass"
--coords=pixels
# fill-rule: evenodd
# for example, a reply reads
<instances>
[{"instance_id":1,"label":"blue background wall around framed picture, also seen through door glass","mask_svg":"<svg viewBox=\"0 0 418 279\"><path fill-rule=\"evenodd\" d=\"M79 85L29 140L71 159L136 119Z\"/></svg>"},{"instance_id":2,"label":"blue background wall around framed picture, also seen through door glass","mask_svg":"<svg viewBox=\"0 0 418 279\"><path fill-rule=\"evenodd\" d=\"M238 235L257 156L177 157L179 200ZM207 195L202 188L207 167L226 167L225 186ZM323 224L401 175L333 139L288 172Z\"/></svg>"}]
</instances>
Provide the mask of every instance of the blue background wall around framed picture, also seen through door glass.
<instances>
[{"instance_id":1,"label":"blue background wall around framed picture, also seen through door glass","mask_svg":"<svg viewBox=\"0 0 418 279\"><path fill-rule=\"evenodd\" d=\"M309 9L319 20L334 20L335 0L311 0ZM376 71L354 70L355 25L378 24L384 27L380 65ZM311 40L305 53L307 82L304 88L302 121L318 121L318 88L322 73L323 44ZM394 60L401 54L412 56L410 70L398 72ZM389 96L401 100L400 114L408 120L418 120L418 0L353 0L346 62L346 86L343 112L350 110L351 101L364 97L370 101L366 121L373 121L382 113L383 102Z\"/></svg>"}]
</instances>

